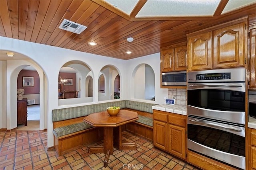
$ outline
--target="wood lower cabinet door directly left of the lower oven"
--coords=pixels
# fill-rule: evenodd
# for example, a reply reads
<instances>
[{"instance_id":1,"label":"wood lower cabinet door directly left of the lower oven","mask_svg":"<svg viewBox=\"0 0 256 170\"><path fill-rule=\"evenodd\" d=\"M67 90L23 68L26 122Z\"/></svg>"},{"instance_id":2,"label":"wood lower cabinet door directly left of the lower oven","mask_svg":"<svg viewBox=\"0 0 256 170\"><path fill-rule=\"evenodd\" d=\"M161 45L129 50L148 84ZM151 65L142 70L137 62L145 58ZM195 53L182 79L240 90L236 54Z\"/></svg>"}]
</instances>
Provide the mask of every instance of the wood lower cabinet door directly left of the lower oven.
<instances>
[{"instance_id":1,"label":"wood lower cabinet door directly left of the lower oven","mask_svg":"<svg viewBox=\"0 0 256 170\"><path fill-rule=\"evenodd\" d=\"M168 151L186 159L186 130L184 127L168 124Z\"/></svg>"}]
</instances>

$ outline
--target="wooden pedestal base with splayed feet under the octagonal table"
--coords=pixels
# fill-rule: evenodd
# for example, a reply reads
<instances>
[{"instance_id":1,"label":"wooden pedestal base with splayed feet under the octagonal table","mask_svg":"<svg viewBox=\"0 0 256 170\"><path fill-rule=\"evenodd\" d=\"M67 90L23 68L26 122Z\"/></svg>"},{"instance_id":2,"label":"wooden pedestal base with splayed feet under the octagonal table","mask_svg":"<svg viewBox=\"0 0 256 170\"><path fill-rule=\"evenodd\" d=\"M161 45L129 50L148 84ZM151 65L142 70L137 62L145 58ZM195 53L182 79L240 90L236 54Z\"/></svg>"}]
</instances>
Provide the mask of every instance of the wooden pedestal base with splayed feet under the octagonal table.
<instances>
[{"instance_id":1,"label":"wooden pedestal base with splayed feet under the octagonal table","mask_svg":"<svg viewBox=\"0 0 256 170\"><path fill-rule=\"evenodd\" d=\"M118 150L137 150L135 143L122 143L122 129L118 126L115 128L104 127L104 147L90 147L88 152L106 154L104 159L104 167L106 168L114 147Z\"/></svg>"}]
</instances>

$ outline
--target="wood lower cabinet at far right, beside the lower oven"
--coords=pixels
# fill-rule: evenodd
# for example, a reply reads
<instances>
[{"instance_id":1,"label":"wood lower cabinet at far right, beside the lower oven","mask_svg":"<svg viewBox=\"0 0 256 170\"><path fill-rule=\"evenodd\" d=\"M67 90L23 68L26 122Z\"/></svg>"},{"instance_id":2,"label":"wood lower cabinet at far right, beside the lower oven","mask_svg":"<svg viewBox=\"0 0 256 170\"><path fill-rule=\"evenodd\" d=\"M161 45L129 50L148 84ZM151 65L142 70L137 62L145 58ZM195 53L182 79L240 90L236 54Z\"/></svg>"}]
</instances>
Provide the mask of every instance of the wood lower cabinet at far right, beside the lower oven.
<instances>
[{"instance_id":1,"label":"wood lower cabinet at far right, beside the lower oven","mask_svg":"<svg viewBox=\"0 0 256 170\"><path fill-rule=\"evenodd\" d=\"M256 129L248 128L248 170L256 170Z\"/></svg>"}]
</instances>

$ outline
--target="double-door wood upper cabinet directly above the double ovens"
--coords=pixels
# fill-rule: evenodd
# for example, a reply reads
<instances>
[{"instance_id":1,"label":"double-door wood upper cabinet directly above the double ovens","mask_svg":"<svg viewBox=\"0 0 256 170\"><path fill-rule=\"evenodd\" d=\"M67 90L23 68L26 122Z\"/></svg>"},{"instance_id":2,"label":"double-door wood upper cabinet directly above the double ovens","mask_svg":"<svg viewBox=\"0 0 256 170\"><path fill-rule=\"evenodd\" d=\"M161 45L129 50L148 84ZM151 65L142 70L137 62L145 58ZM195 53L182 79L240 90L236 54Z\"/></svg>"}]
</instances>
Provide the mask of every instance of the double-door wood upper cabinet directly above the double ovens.
<instances>
[{"instance_id":1,"label":"double-door wood upper cabinet directly above the double ovens","mask_svg":"<svg viewBox=\"0 0 256 170\"><path fill-rule=\"evenodd\" d=\"M187 35L188 71L245 65L247 18Z\"/></svg>"}]
</instances>

